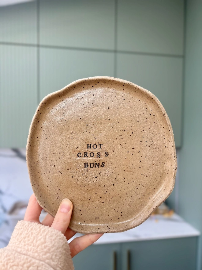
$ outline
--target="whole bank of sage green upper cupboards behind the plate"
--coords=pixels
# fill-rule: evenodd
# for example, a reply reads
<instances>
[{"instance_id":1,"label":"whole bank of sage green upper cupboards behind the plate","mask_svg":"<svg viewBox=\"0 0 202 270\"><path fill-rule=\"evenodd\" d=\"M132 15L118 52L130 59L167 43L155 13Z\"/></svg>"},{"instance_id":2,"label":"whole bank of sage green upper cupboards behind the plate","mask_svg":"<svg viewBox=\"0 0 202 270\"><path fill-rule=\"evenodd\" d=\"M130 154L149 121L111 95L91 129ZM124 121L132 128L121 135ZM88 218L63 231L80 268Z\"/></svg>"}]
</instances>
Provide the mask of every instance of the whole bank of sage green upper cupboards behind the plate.
<instances>
[{"instance_id":1,"label":"whole bank of sage green upper cupboards behind the plate","mask_svg":"<svg viewBox=\"0 0 202 270\"><path fill-rule=\"evenodd\" d=\"M25 147L40 100L107 75L154 93L181 145L183 0L37 0L0 7L0 147Z\"/></svg>"}]
</instances>

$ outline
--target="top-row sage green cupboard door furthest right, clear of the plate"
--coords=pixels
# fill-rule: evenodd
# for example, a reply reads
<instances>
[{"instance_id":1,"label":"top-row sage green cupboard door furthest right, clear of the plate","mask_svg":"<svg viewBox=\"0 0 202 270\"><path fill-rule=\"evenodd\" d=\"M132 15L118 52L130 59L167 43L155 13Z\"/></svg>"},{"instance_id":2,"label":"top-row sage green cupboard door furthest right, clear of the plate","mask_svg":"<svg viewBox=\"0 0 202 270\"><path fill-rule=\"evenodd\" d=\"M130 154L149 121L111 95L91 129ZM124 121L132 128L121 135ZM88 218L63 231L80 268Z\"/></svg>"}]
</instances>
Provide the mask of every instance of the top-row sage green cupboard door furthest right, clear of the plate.
<instances>
[{"instance_id":1,"label":"top-row sage green cupboard door furthest right, clear of the plate","mask_svg":"<svg viewBox=\"0 0 202 270\"><path fill-rule=\"evenodd\" d=\"M118 50L182 55L183 29L183 0L118 0Z\"/></svg>"}]
</instances>

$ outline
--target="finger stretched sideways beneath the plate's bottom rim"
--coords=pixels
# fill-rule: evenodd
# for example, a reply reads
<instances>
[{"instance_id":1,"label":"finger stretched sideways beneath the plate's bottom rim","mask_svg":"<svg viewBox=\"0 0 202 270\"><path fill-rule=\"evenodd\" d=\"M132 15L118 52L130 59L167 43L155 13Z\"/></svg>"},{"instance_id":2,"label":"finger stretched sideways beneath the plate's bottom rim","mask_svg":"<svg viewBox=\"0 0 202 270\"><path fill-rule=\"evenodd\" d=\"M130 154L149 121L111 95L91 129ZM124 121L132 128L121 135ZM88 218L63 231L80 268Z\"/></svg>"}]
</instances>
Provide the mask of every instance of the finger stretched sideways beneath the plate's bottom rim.
<instances>
[{"instance_id":1,"label":"finger stretched sideways beneath the plate's bottom rim","mask_svg":"<svg viewBox=\"0 0 202 270\"><path fill-rule=\"evenodd\" d=\"M80 251L84 250L87 248L89 245L95 243L103 234L98 233L98 234L86 234L80 237L77 237L73 239L69 243L69 248L71 251L71 256L72 258L77 255Z\"/></svg>"}]
</instances>

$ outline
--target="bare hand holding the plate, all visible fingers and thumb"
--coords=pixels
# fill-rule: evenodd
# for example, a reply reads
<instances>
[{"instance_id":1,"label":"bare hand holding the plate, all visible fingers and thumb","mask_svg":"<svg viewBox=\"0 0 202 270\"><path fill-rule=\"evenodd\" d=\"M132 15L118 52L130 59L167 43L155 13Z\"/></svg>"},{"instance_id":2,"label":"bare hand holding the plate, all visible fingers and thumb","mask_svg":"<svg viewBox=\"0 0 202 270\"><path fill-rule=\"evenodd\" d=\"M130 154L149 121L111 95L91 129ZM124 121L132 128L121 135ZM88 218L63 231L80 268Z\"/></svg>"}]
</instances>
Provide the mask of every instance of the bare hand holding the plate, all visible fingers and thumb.
<instances>
[{"instance_id":1,"label":"bare hand holding the plate, all visible fingers and thumb","mask_svg":"<svg viewBox=\"0 0 202 270\"><path fill-rule=\"evenodd\" d=\"M64 236L69 240L76 233L69 229L69 222L72 215L73 204L69 199L63 199L58 212L53 218L50 214L47 214L42 222L39 221L39 216L42 211L42 207L38 204L34 194L29 199L27 210L24 216L24 221L37 222L45 226L52 227L58 231L61 231ZM72 258L77 255L80 251L87 248L89 245L97 241L103 234L86 234L73 239L69 243Z\"/></svg>"}]
</instances>

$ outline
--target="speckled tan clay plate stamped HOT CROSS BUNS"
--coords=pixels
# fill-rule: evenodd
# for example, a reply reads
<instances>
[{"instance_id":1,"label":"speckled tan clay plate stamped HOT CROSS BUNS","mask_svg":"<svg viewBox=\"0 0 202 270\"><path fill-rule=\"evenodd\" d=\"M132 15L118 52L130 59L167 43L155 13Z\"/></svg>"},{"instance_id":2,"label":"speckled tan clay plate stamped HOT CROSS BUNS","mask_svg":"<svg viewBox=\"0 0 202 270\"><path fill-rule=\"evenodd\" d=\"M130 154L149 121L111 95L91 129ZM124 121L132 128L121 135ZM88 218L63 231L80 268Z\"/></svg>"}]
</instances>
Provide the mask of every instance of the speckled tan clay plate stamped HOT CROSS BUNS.
<instances>
[{"instance_id":1,"label":"speckled tan clay plate stamped HOT CROSS BUNS","mask_svg":"<svg viewBox=\"0 0 202 270\"><path fill-rule=\"evenodd\" d=\"M46 96L26 156L39 204L54 216L69 198L69 227L80 233L140 225L170 195L177 169L172 127L159 100L111 77L81 79Z\"/></svg>"}]
</instances>

